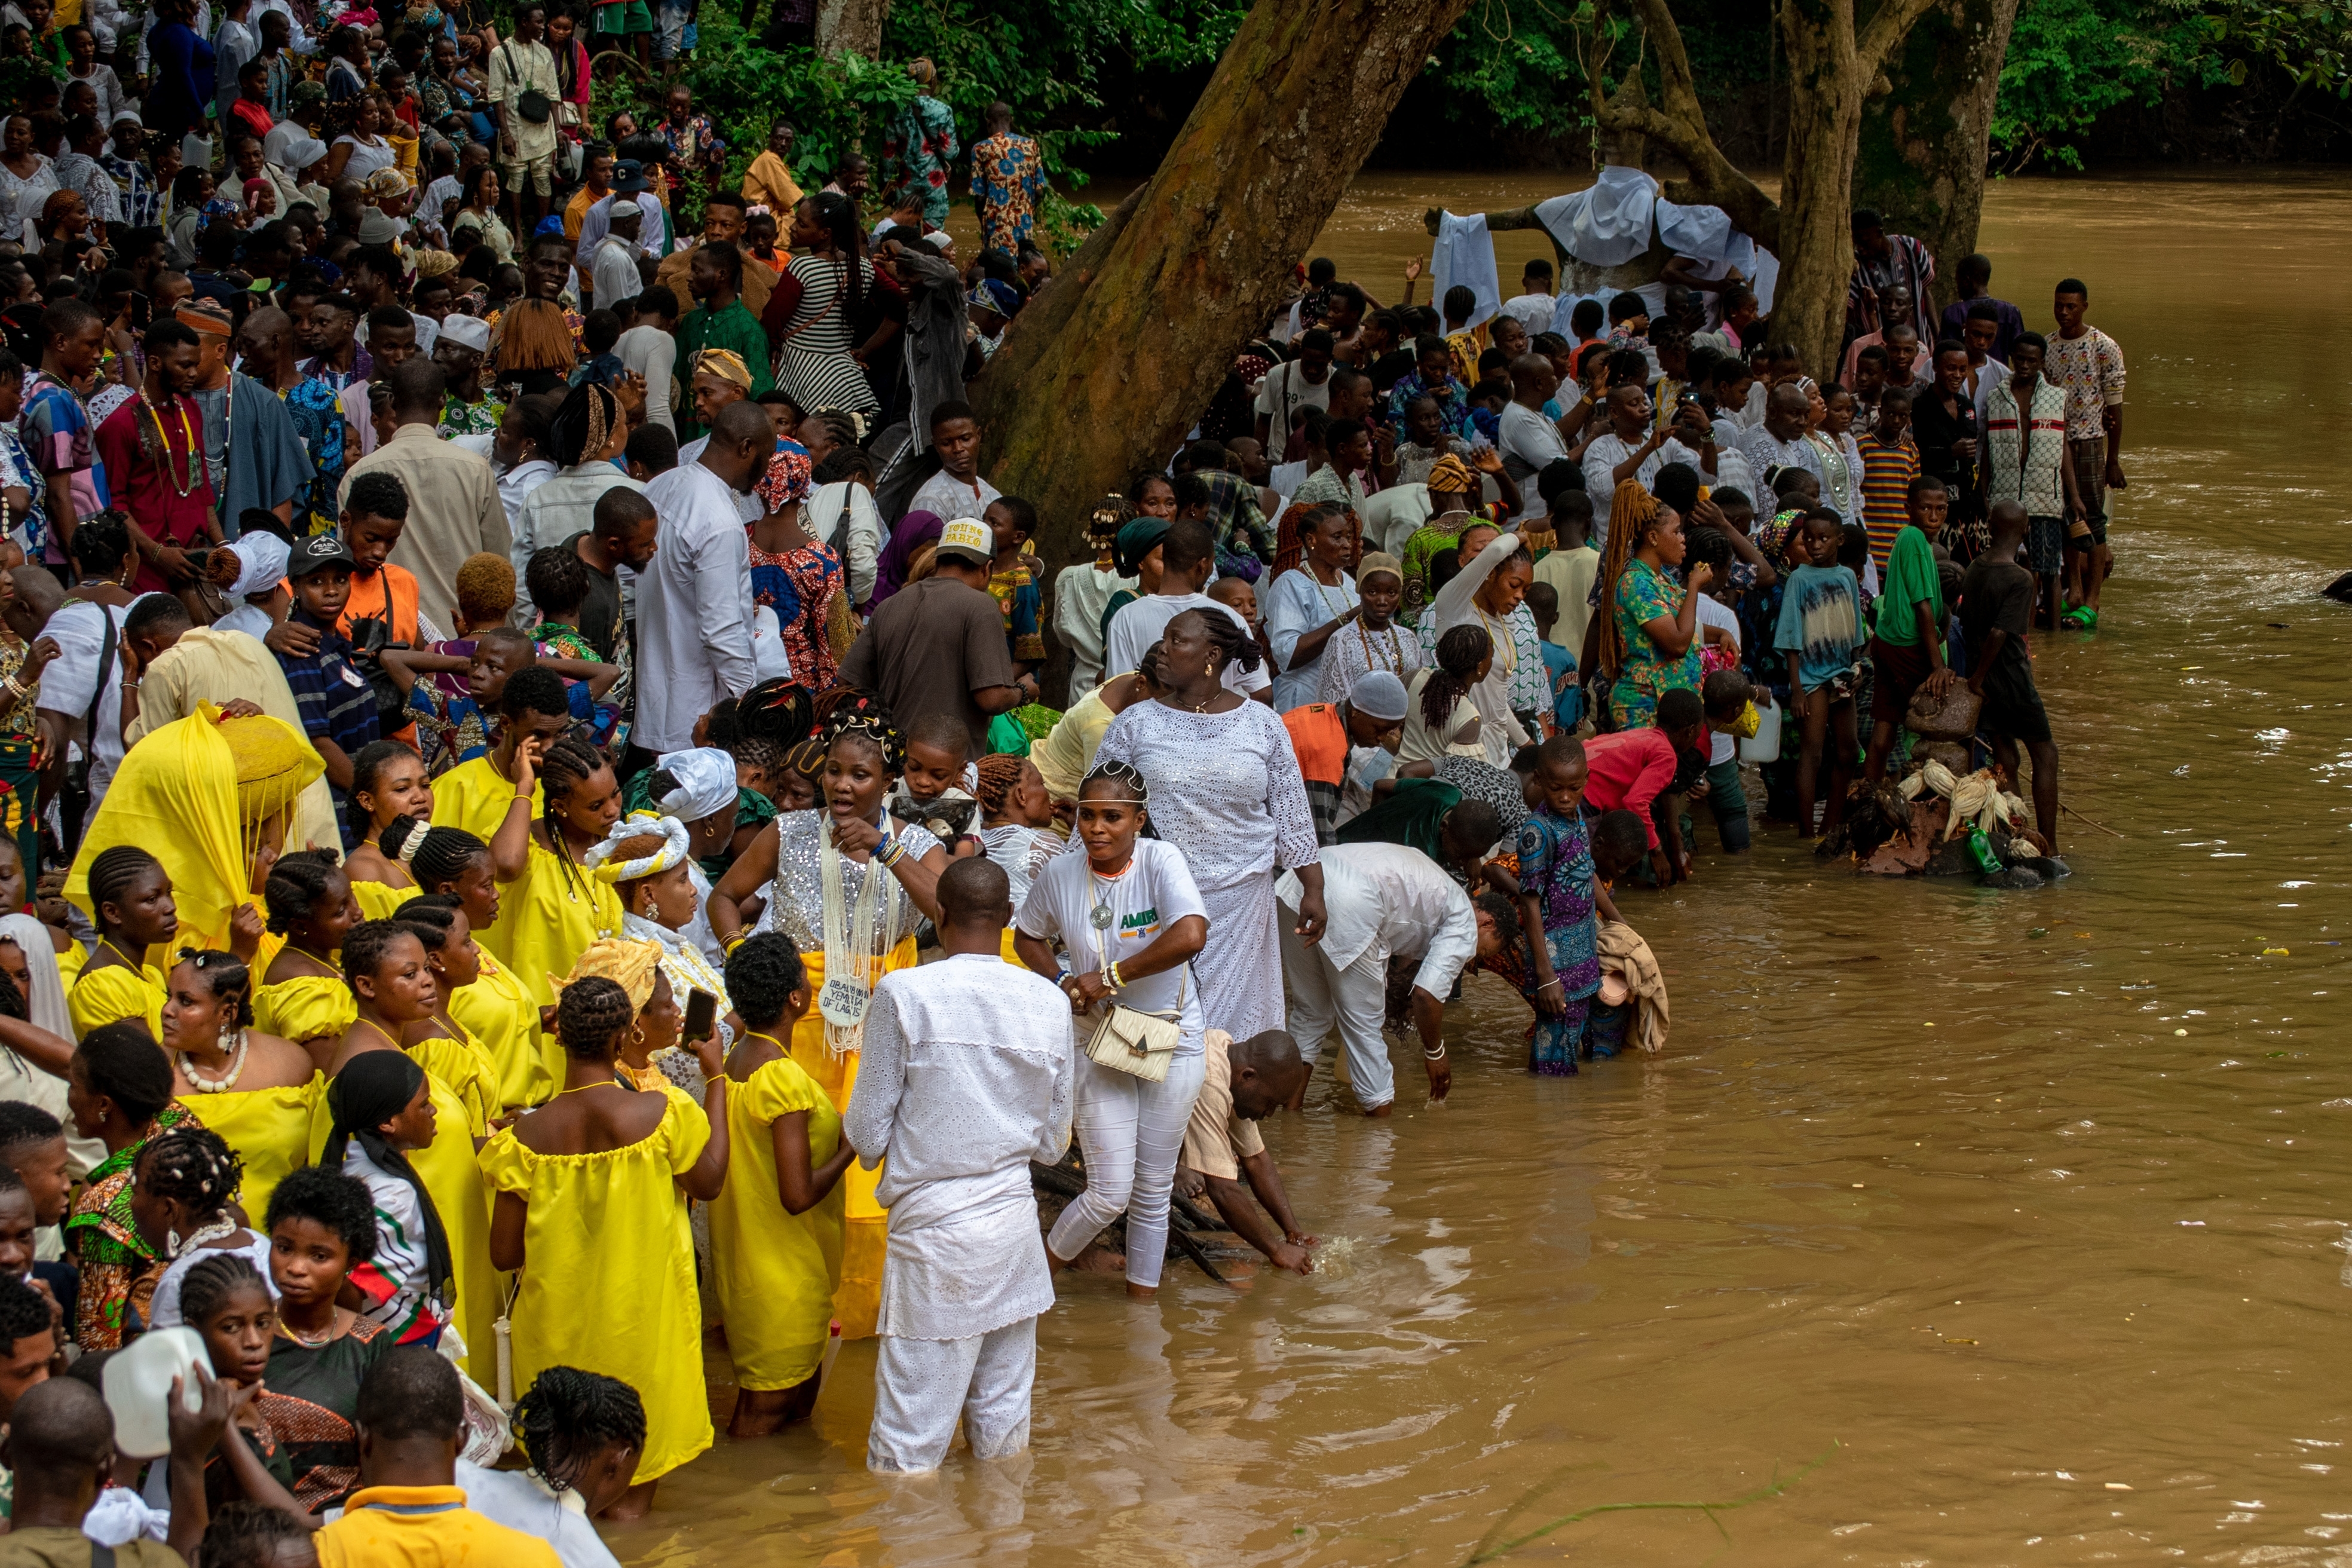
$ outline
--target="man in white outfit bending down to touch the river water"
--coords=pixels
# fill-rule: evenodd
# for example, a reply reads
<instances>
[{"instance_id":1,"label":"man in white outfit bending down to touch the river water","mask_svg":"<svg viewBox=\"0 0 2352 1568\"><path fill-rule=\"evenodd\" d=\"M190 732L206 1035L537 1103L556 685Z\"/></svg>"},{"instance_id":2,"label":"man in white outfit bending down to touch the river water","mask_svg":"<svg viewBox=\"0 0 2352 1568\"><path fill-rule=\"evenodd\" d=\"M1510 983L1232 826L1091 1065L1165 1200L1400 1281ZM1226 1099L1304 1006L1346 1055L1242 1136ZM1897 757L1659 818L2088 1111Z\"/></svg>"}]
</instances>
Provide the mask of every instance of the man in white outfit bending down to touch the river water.
<instances>
[{"instance_id":1,"label":"man in white outfit bending down to touch the river water","mask_svg":"<svg viewBox=\"0 0 2352 1568\"><path fill-rule=\"evenodd\" d=\"M1414 1025L1430 1098L1454 1086L1446 1060L1446 997L1479 954L1477 910L1446 867L1404 844L1329 844L1324 867L1324 938L1308 947L1282 926L1282 978L1291 1004L1291 1039L1312 1070L1322 1041L1338 1027L1348 1051L1348 1086L1367 1117L1397 1100L1381 1025L1388 1016L1388 959L1421 959L1414 976ZM1298 875L1275 884L1284 907L1298 907Z\"/></svg>"}]
</instances>

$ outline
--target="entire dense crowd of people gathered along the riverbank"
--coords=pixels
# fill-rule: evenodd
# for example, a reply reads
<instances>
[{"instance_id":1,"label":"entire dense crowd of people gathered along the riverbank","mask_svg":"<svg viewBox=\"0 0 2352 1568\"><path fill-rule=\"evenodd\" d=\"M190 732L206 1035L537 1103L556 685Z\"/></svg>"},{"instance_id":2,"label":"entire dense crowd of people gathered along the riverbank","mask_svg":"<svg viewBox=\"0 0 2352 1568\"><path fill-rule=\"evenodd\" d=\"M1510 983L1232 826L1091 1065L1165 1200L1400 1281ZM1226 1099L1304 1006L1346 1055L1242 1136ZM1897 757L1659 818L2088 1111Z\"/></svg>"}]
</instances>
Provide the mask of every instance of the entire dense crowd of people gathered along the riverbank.
<instances>
[{"instance_id":1,"label":"entire dense crowd of people gathered along the riverbank","mask_svg":"<svg viewBox=\"0 0 2352 1568\"><path fill-rule=\"evenodd\" d=\"M2079 280L1936 317L1858 214L1809 367L1738 268L1315 261L1049 564L967 397L1037 148L929 63L875 188L687 87L588 125L675 0L9 16L0 1563L609 1563L706 1340L736 1441L877 1338L873 1469L1014 1453L1063 1272L1150 1300L1192 1199L1315 1267L1258 1124L1390 1114L1392 1032L1442 1100L1468 973L1531 1074L1661 1048L1693 813L1830 835L1964 686L2056 851Z\"/></svg>"}]
</instances>

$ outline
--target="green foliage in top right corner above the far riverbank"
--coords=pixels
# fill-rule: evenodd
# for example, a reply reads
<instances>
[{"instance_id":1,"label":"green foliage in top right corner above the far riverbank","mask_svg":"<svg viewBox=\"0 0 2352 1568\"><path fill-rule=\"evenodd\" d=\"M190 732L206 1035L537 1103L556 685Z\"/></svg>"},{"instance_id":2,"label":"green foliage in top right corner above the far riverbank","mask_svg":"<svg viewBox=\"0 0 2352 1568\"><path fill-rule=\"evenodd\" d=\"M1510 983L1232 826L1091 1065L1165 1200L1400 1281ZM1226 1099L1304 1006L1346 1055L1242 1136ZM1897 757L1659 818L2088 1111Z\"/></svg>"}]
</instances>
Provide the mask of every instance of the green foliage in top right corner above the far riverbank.
<instances>
[{"instance_id":1,"label":"green foliage in top right corner above the far riverbank","mask_svg":"<svg viewBox=\"0 0 2352 1568\"><path fill-rule=\"evenodd\" d=\"M2274 66L2296 92L2352 96L2352 9L2317 0L2025 0L2002 63L1992 155L2079 169L2077 139L2110 108L2173 87L2241 87Z\"/></svg>"}]
</instances>

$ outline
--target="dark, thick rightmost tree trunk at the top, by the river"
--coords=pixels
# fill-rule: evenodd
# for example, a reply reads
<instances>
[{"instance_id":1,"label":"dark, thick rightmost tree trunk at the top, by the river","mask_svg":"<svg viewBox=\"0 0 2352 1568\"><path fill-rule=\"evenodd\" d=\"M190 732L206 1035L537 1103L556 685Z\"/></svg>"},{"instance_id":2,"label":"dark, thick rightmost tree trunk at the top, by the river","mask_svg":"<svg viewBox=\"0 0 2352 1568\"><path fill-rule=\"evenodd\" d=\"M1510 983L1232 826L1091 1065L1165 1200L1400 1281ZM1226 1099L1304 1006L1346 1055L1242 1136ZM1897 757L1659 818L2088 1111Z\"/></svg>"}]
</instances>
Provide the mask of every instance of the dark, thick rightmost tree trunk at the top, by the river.
<instances>
[{"instance_id":1,"label":"dark, thick rightmost tree trunk at the top, by the river","mask_svg":"<svg viewBox=\"0 0 2352 1568\"><path fill-rule=\"evenodd\" d=\"M2018 0L1936 0L1886 61L1886 92L1863 106L1853 205L1936 256L1936 306L1976 249L2002 56Z\"/></svg>"}]
</instances>

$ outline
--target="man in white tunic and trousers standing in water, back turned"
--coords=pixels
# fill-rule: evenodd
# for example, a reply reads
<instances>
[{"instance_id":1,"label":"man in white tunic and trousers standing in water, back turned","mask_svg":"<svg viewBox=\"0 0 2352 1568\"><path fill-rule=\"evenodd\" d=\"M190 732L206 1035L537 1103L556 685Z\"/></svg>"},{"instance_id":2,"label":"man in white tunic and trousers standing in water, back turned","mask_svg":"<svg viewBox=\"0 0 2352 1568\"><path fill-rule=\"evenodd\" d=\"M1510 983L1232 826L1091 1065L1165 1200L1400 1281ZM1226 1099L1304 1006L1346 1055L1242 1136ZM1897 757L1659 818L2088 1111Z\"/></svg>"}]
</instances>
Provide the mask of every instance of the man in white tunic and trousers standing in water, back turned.
<instances>
[{"instance_id":1,"label":"man in white tunic and trousers standing in water, back turned","mask_svg":"<svg viewBox=\"0 0 2352 1568\"><path fill-rule=\"evenodd\" d=\"M938 879L946 961L884 976L866 1011L842 1135L889 1208L868 1469L938 1469L964 1420L971 1453L1028 1448L1037 1314L1054 1305L1030 1161L1070 1145L1070 1004L1000 957L1004 870Z\"/></svg>"}]
</instances>

